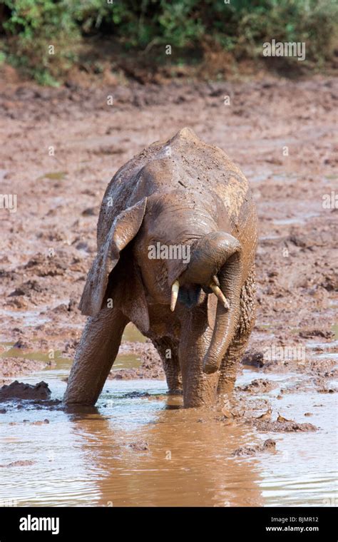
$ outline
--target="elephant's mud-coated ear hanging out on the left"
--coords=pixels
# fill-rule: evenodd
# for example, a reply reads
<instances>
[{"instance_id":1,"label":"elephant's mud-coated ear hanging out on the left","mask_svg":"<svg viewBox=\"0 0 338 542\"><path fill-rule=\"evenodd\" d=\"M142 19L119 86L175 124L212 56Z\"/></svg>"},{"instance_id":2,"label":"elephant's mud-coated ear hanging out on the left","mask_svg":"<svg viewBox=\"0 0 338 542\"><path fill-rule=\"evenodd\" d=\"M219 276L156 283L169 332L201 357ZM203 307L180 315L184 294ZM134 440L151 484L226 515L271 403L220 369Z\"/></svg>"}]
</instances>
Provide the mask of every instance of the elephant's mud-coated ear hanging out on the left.
<instances>
[{"instance_id":1,"label":"elephant's mud-coated ear hanging out on the left","mask_svg":"<svg viewBox=\"0 0 338 542\"><path fill-rule=\"evenodd\" d=\"M98 255L88 272L87 282L80 301L83 315L94 316L100 310L108 285L109 273L116 266L120 252L133 240L142 224L147 198L123 210L118 215L106 240L98 250Z\"/></svg>"}]
</instances>

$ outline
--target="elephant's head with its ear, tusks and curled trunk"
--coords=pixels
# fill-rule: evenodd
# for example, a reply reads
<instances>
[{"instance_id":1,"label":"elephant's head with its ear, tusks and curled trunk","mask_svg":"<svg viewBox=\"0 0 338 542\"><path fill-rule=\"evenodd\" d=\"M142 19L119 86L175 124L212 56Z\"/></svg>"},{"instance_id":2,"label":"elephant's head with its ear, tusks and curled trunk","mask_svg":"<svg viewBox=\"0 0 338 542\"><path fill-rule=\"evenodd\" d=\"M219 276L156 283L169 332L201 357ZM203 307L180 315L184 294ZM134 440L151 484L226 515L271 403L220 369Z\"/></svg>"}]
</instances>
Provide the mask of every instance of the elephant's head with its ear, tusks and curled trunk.
<instances>
[{"instance_id":1,"label":"elephant's head with its ear, tusks and curled trunk","mask_svg":"<svg viewBox=\"0 0 338 542\"><path fill-rule=\"evenodd\" d=\"M197 201L195 195L190 198L179 190L150 195L124 210L111 225L89 272L82 312L96 314L107 297L108 282L118 284L118 293L114 287L110 290L113 302L146 332L149 305L166 305L168 315L171 308L182 327L187 312L215 294L214 329L202 355L204 372L217 371L238 322L242 252L230 232L219 231L213 215L215 200ZM150 255L152 247L155 257ZM174 251L178 257L170 253L162 257L161 247L181 247L181 252ZM128 262L128 268L123 262Z\"/></svg>"}]
</instances>

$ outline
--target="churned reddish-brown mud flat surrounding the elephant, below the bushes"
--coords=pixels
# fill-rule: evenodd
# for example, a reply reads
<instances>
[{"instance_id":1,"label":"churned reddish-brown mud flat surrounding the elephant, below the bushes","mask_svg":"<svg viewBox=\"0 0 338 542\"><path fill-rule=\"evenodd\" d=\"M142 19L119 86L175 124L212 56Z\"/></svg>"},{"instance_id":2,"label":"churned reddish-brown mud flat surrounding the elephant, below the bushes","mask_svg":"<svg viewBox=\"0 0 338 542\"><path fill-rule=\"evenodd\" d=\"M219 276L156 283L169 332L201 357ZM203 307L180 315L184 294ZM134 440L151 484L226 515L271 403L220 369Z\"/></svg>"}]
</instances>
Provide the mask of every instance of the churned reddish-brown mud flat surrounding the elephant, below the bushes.
<instances>
[{"instance_id":1,"label":"churned reddish-brown mud flat surrounding the elephant, below the bushes","mask_svg":"<svg viewBox=\"0 0 338 542\"><path fill-rule=\"evenodd\" d=\"M335 188L337 99L337 79L322 76L106 88L0 83L0 191L17 194L18 205L16 213L0 209L1 339L23 355L53 349L73 356L85 322L77 304L108 181L142 148L190 126L235 160L257 202L257 324L243 361L262 373L295 369L332 378L332 359L312 354L329 349L337 303L338 212L322 205ZM327 347L309 349L311 340ZM305 357L267 360L272 345L306 347ZM111 377L163 377L153 347L126 344L122 352L135 349L142 367ZM6 381L36 370L14 357L0 366Z\"/></svg>"}]
</instances>

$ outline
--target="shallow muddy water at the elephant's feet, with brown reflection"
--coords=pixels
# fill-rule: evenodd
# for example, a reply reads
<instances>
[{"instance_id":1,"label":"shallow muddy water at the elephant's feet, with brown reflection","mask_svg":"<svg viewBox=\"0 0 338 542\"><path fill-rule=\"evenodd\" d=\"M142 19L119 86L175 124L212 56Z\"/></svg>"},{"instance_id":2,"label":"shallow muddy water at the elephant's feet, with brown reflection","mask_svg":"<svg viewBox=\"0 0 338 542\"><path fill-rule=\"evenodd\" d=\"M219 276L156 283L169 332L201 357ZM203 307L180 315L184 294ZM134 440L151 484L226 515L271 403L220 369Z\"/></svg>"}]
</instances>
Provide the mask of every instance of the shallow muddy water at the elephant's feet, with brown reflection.
<instances>
[{"instance_id":1,"label":"shallow muddy water at the elephant's feet, with brown reflection","mask_svg":"<svg viewBox=\"0 0 338 542\"><path fill-rule=\"evenodd\" d=\"M118 368L137 361L131 358L119 357ZM69 366L69 360L58 358L55 366L24 381L43 379L52 397L61 399ZM245 369L238 384L260 376ZM262 399L272 402L274 419L280 411L319 426L317 433L257 434L244 424L227 426L215 412L180 408L180 398L165 395L163 381L108 381L97 408L83 411L1 404L6 413L0 414L0 501L18 506L334 504L335 394L277 399L280 387L302 378L269 374L278 385ZM36 424L45 419L49 423ZM277 442L275 454L231 456L239 446L267 438Z\"/></svg>"}]
</instances>

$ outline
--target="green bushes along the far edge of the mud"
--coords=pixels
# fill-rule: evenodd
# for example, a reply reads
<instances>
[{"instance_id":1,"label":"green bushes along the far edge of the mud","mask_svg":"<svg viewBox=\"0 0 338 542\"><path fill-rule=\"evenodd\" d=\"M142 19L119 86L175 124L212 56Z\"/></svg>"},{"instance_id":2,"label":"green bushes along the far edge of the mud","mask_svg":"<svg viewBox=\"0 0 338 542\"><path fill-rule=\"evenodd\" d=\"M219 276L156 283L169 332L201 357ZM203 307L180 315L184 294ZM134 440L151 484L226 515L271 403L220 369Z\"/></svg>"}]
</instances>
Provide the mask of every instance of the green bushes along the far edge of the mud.
<instances>
[{"instance_id":1,"label":"green bushes along the far edge of the mud","mask_svg":"<svg viewBox=\"0 0 338 542\"><path fill-rule=\"evenodd\" d=\"M265 41L304 41L307 65L323 66L337 39L335 0L2 0L0 62L41 84L58 84L78 62L81 44L106 38L128 55L179 63L206 48L236 61L261 58ZM50 46L54 47L51 54ZM196 54L195 54L196 58ZM160 59L160 60L159 60ZM294 62L295 58L286 59Z\"/></svg>"}]
</instances>

